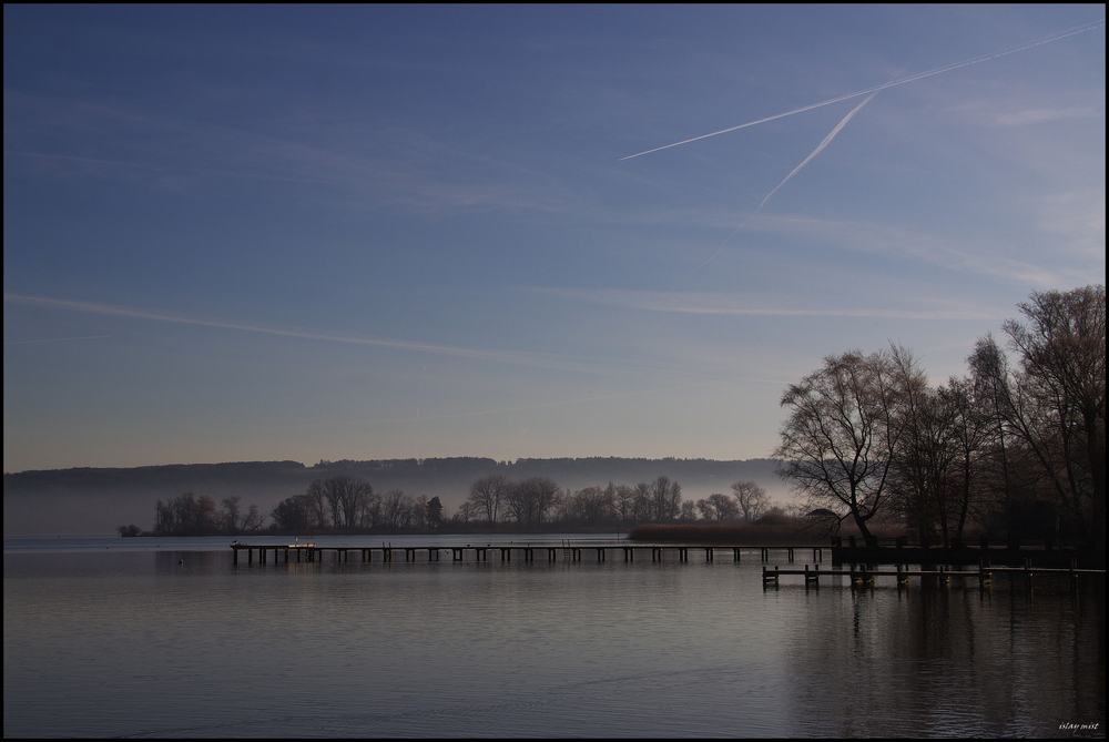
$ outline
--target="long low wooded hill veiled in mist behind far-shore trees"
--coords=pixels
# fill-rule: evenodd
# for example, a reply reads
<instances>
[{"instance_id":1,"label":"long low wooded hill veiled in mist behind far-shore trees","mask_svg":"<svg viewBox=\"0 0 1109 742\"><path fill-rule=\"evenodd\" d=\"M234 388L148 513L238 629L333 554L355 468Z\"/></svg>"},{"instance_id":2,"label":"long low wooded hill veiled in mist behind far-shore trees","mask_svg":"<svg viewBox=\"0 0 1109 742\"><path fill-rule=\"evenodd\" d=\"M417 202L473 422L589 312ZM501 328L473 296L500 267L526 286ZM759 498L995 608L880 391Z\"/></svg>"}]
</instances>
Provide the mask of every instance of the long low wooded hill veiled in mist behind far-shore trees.
<instances>
[{"instance_id":1,"label":"long low wooded hill veiled in mist behind far-shore trees","mask_svg":"<svg viewBox=\"0 0 1109 742\"><path fill-rule=\"evenodd\" d=\"M772 497L785 488L774 459L527 458L497 461L457 457L319 461L236 461L134 468L75 468L20 471L3 476L4 536L111 533L120 524L151 525L154 505L183 492L208 495L217 501L238 496L268 512L278 501L304 492L314 479L337 475L359 477L377 492L401 489L439 497L448 516L481 477L503 475L513 480L550 477L562 488L634 485L669 477L682 486L684 499L729 492L737 480L755 481Z\"/></svg>"}]
</instances>

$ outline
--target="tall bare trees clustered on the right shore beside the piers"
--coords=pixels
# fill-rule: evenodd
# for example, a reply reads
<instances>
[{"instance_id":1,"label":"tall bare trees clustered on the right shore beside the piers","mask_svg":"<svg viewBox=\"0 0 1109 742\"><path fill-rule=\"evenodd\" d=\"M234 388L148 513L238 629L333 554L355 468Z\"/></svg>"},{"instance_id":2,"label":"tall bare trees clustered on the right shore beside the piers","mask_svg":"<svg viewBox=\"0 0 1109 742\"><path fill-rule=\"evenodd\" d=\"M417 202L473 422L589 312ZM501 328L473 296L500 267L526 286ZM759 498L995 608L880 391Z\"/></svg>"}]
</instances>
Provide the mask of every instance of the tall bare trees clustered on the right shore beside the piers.
<instances>
[{"instance_id":1,"label":"tall bare trees clustered on the right shore beside the piers","mask_svg":"<svg viewBox=\"0 0 1109 742\"><path fill-rule=\"evenodd\" d=\"M848 350L782 395L779 474L831 530L895 520L922 541L971 529L1072 538L1105 557L1105 286L1032 293L939 386L892 344Z\"/></svg>"}]
</instances>

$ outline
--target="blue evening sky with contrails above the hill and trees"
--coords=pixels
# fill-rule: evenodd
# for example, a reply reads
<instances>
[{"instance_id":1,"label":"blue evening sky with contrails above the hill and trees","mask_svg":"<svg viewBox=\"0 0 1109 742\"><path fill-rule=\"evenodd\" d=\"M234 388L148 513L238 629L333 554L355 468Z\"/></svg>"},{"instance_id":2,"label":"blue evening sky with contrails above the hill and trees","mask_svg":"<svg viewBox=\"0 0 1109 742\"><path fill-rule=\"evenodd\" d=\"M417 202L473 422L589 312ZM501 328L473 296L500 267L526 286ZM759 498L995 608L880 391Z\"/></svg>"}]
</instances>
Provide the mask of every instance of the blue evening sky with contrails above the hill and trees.
<instances>
[{"instance_id":1,"label":"blue evening sky with contrails above the hill and trees","mask_svg":"<svg viewBox=\"0 0 1109 742\"><path fill-rule=\"evenodd\" d=\"M6 4L4 471L769 457L1105 282L1103 17Z\"/></svg>"}]
</instances>

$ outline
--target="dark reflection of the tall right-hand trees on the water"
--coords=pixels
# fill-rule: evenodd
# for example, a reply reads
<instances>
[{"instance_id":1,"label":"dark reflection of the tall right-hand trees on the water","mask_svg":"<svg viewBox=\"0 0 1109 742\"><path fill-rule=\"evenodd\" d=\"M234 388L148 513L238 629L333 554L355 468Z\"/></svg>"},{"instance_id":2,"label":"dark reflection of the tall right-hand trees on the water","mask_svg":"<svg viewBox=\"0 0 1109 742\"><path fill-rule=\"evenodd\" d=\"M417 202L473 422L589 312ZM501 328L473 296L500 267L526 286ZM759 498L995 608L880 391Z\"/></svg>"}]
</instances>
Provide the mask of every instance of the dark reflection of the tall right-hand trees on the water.
<instances>
[{"instance_id":1,"label":"dark reflection of the tall right-hand trees on the water","mask_svg":"<svg viewBox=\"0 0 1109 742\"><path fill-rule=\"evenodd\" d=\"M1100 614L1092 598L1032 601L1000 585L986 599L915 585L794 596L782 735L1039 738L1058 735L1060 709L1100 719L1101 594Z\"/></svg>"}]
</instances>

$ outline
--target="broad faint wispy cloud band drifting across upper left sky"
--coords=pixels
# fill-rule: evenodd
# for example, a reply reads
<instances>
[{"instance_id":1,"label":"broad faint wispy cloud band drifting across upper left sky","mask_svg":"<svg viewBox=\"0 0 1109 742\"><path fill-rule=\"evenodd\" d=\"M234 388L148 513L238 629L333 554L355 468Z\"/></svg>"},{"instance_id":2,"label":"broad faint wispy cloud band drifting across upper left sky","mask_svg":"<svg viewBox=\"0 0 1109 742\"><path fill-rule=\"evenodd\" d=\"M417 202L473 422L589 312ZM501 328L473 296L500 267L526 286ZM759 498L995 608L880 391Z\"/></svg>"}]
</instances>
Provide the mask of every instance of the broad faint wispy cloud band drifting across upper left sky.
<instances>
[{"instance_id":1,"label":"broad faint wispy cloud band drifting across upper left sky","mask_svg":"<svg viewBox=\"0 0 1109 742\"><path fill-rule=\"evenodd\" d=\"M126 173L174 189L213 180L324 185L336 189L330 199L346 193L362 210L399 205L429 213L557 211L573 199L519 157L433 129L301 121L284 111L265 123L246 118L212 123L149 105L18 91L4 91L4 115L6 159L69 174Z\"/></svg>"}]
</instances>

